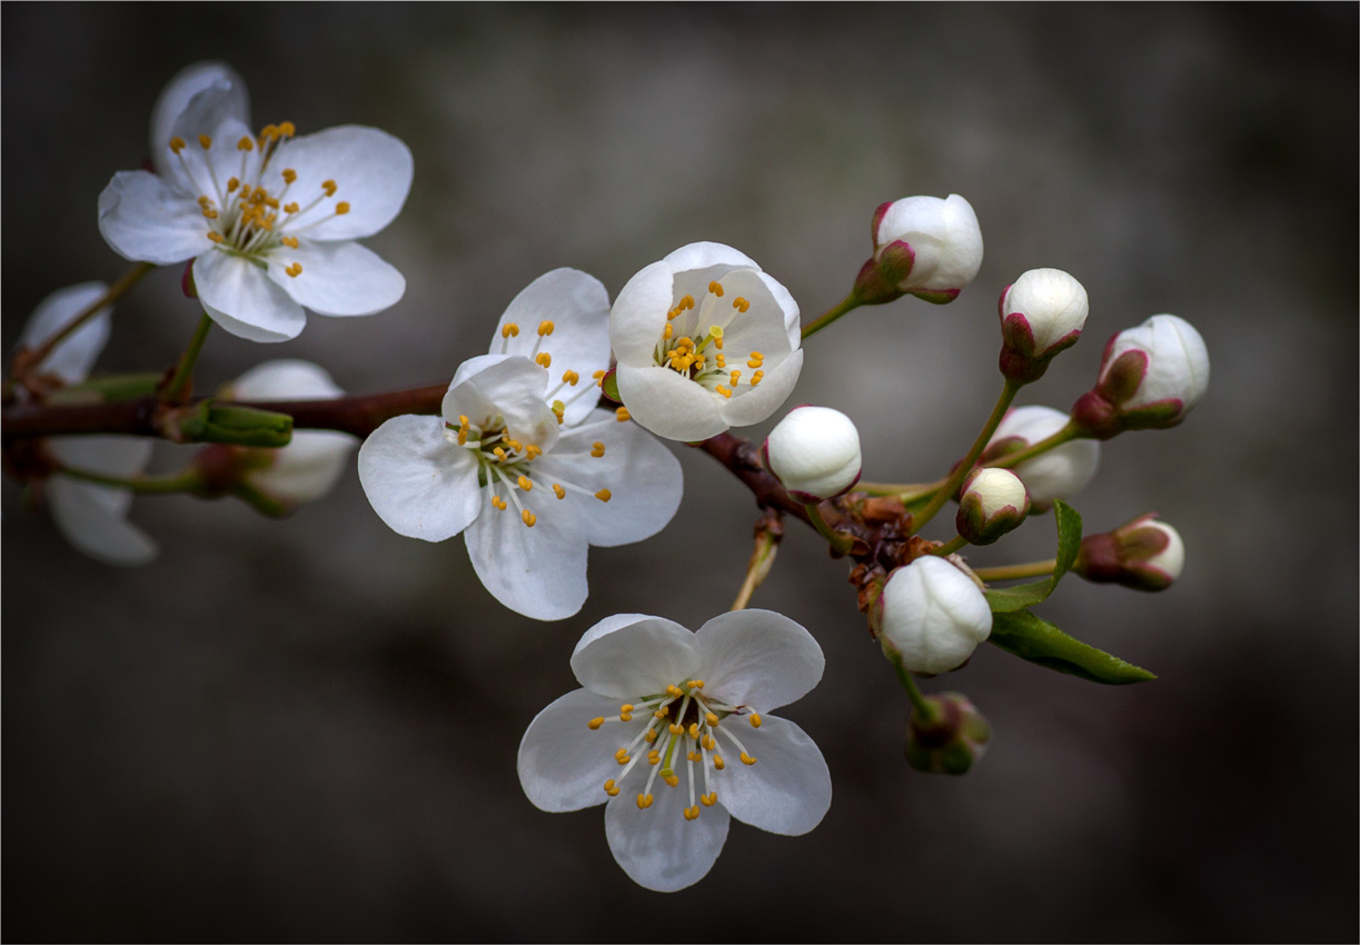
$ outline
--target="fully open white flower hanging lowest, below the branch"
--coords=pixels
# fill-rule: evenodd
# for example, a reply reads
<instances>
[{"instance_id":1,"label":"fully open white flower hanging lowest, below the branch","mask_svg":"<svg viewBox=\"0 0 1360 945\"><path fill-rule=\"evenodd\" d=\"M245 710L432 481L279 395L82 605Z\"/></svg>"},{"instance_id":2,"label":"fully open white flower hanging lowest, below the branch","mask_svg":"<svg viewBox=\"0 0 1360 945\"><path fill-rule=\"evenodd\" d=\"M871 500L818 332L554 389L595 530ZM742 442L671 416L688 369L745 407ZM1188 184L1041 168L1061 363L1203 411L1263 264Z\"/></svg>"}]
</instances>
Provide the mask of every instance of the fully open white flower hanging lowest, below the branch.
<instances>
[{"instance_id":1,"label":"fully open white flower hanging lowest, below the branch","mask_svg":"<svg viewBox=\"0 0 1360 945\"><path fill-rule=\"evenodd\" d=\"M702 880L729 817L797 836L831 806L816 744L770 710L821 678L821 647L770 611L733 611L691 634L641 613L601 620L571 657L583 688L539 712L520 783L541 810L608 802L609 850L639 885Z\"/></svg>"}]
</instances>

